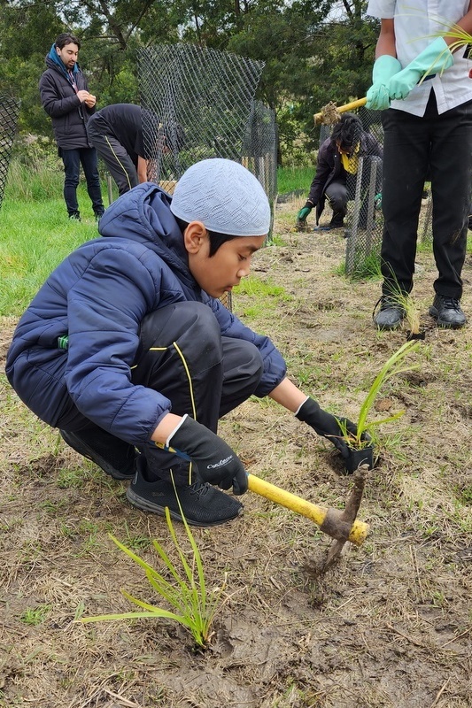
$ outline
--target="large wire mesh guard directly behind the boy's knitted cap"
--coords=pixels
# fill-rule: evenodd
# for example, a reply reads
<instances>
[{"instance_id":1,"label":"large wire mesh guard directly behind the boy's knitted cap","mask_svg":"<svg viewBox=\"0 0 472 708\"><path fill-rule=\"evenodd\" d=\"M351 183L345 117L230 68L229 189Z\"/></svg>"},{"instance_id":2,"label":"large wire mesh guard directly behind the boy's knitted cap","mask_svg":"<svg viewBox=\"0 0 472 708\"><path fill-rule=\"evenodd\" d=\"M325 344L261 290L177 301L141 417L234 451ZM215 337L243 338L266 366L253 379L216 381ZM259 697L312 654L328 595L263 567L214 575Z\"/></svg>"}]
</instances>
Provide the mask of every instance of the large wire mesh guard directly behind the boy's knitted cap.
<instances>
[{"instance_id":1,"label":"large wire mesh guard directly behind the boy's knitted cap","mask_svg":"<svg viewBox=\"0 0 472 708\"><path fill-rule=\"evenodd\" d=\"M190 165L228 158L255 174L274 204L275 112L254 100L264 63L193 44L162 44L138 50L137 64L148 178L172 194ZM230 297L223 302L230 308Z\"/></svg>"}]
</instances>

